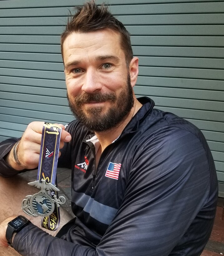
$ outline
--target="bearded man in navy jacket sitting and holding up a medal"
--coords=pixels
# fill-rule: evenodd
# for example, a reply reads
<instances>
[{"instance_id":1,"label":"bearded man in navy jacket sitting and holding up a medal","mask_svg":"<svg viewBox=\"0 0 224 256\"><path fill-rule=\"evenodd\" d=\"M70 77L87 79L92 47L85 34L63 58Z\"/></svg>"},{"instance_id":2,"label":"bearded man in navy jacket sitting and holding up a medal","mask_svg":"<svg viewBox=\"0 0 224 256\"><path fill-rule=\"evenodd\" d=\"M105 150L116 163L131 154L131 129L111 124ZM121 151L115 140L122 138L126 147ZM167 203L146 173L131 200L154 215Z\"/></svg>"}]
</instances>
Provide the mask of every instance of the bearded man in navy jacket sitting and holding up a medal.
<instances>
[{"instance_id":1,"label":"bearded man in navy jacket sitting and holding up a medal","mask_svg":"<svg viewBox=\"0 0 224 256\"><path fill-rule=\"evenodd\" d=\"M214 161L202 133L153 109L151 99L136 99L138 58L106 7L90 1L77 9L61 36L61 53L78 121L63 127L59 166L72 170L76 218L57 237L30 223L14 234L14 249L48 256L200 255L217 203ZM42 126L31 123L18 145L2 142L3 176L37 167ZM14 218L1 224L5 246Z\"/></svg>"}]
</instances>

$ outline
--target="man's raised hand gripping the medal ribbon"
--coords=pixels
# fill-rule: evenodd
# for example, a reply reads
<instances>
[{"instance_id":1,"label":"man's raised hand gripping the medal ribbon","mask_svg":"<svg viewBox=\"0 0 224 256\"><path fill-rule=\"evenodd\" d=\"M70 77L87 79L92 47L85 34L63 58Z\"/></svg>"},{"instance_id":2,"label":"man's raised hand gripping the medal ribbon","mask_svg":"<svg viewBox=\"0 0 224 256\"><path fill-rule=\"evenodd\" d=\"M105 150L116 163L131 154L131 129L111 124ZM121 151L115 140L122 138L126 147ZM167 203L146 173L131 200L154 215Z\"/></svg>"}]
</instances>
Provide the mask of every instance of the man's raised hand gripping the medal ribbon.
<instances>
[{"instance_id":1,"label":"man's raised hand gripping the medal ribbon","mask_svg":"<svg viewBox=\"0 0 224 256\"><path fill-rule=\"evenodd\" d=\"M6 157L6 163L15 170L34 169L39 163L41 136L44 122L32 122L27 126L21 141L17 146L17 158L21 165L19 165L13 157L13 148ZM71 135L65 130L63 125L61 131L60 149L64 146L64 142L71 140ZM59 156L61 152L59 152Z\"/></svg>"}]
</instances>

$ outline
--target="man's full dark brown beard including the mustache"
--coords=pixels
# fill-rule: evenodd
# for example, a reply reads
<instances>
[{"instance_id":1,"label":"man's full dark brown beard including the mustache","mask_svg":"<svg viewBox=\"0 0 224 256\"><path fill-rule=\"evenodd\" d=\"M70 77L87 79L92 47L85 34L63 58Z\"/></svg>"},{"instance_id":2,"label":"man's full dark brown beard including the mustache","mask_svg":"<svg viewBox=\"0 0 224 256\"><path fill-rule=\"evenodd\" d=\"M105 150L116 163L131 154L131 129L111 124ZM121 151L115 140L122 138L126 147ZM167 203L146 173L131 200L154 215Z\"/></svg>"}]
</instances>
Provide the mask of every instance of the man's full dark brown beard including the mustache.
<instances>
[{"instance_id":1,"label":"man's full dark brown beard including the mustache","mask_svg":"<svg viewBox=\"0 0 224 256\"><path fill-rule=\"evenodd\" d=\"M71 99L67 93L68 103L74 116L91 131L106 131L119 126L119 124L128 116L134 106L134 97L130 81L130 75L127 76L123 90L118 96L114 92L96 92L86 93ZM83 103L110 101L112 104L107 111L104 107L88 107L84 111Z\"/></svg>"}]
</instances>

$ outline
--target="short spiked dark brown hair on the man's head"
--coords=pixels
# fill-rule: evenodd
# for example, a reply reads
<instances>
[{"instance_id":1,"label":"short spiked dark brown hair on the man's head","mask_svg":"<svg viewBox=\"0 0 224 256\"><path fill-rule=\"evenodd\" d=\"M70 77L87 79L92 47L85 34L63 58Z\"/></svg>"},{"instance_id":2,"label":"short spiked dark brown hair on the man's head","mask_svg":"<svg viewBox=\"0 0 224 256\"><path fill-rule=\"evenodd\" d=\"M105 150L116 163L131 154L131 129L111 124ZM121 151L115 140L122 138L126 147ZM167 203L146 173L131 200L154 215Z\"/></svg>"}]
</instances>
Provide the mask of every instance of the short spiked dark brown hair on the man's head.
<instances>
[{"instance_id":1,"label":"short spiked dark brown hair on the man's head","mask_svg":"<svg viewBox=\"0 0 224 256\"><path fill-rule=\"evenodd\" d=\"M133 58L130 33L126 30L124 25L110 13L108 6L103 3L98 7L95 4L95 0L90 0L81 7L75 7L75 10L75 15L68 18L66 28L61 34L62 59L63 43L66 37L72 32L86 33L102 28L110 28L120 34L120 46L124 51L126 63L129 66Z\"/></svg>"}]
</instances>

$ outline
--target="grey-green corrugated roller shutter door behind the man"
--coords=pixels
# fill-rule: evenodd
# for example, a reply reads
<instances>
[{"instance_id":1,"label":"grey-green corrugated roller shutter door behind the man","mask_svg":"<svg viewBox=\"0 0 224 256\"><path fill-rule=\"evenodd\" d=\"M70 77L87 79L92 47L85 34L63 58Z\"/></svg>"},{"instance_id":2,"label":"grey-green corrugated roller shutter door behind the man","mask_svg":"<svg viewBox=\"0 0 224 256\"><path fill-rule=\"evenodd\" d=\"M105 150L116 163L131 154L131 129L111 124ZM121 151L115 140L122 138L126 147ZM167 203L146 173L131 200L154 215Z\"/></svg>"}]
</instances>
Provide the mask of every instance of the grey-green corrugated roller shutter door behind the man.
<instances>
[{"instance_id":1,"label":"grey-green corrugated roller shutter door behind the man","mask_svg":"<svg viewBox=\"0 0 224 256\"><path fill-rule=\"evenodd\" d=\"M0 1L0 140L35 120L67 123L60 33L83 0ZM103 1L97 1L101 3ZM224 1L110 0L139 56L137 96L195 124L224 196Z\"/></svg>"}]
</instances>

